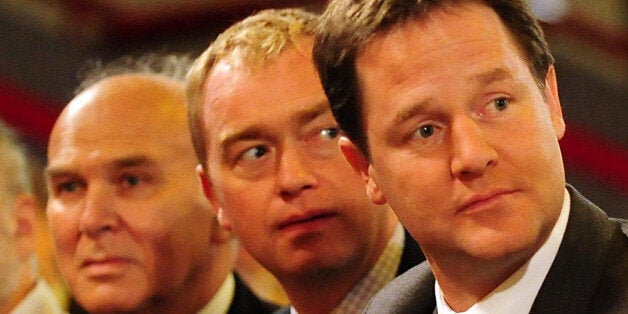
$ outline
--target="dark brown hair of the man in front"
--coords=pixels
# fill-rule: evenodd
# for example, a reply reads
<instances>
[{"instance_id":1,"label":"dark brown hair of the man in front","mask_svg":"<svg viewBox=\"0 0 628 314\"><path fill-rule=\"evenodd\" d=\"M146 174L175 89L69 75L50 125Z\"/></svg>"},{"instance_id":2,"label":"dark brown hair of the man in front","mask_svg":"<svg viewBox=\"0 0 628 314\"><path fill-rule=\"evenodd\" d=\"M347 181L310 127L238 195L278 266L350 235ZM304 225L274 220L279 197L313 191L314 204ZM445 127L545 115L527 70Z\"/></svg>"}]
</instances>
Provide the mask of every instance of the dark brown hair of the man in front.
<instances>
[{"instance_id":1,"label":"dark brown hair of the man in front","mask_svg":"<svg viewBox=\"0 0 628 314\"><path fill-rule=\"evenodd\" d=\"M355 60L373 35L455 0L332 0L317 29L313 58L340 128L369 158ZM521 49L539 88L554 59L525 0L480 1L493 9Z\"/></svg>"}]
</instances>

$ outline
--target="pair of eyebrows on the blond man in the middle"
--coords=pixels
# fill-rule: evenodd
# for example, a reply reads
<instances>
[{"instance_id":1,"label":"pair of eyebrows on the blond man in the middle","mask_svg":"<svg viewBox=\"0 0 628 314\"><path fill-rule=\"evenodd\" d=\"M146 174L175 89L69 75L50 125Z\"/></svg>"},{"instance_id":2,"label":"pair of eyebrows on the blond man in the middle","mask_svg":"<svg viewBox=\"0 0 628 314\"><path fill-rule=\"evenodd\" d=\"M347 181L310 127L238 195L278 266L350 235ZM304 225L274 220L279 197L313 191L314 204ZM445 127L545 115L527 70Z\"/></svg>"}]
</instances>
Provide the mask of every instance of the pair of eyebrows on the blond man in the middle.
<instances>
[{"instance_id":1,"label":"pair of eyebrows on the blond man in the middle","mask_svg":"<svg viewBox=\"0 0 628 314\"><path fill-rule=\"evenodd\" d=\"M310 108L297 112L296 121L299 125L303 125L327 112L331 112L329 104L327 101L321 101ZM235 132L228 131L222 134L219 139L219 151L224 155L227 147L231 146L233 143L260 138L263 133L263 127L259 125L252 125Z\"/></svg>"}]
</instances>

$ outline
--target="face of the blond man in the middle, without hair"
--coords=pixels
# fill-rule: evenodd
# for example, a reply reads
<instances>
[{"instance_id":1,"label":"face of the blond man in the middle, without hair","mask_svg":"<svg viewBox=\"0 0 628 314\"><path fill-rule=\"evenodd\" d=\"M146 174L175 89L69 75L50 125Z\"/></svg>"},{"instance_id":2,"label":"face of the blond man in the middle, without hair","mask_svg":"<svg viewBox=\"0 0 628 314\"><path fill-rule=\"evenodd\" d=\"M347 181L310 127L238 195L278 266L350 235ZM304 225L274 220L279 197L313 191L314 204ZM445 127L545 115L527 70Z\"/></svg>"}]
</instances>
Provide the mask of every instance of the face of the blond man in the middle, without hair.
<instances>
[{"instance_id":1,"label":"face of the blond man in the middle, without hair","mask_svg":"<svg viewBox=\"0 0 628 314\"><path fill-rule=\"evenodd\" d=\"M286 48L251 73L216 64L204 87L206 194L240 243L280 280L359 271L377 258L394 214L375 206L337 147L309 54Z\"/></svg>"}]
</instances>

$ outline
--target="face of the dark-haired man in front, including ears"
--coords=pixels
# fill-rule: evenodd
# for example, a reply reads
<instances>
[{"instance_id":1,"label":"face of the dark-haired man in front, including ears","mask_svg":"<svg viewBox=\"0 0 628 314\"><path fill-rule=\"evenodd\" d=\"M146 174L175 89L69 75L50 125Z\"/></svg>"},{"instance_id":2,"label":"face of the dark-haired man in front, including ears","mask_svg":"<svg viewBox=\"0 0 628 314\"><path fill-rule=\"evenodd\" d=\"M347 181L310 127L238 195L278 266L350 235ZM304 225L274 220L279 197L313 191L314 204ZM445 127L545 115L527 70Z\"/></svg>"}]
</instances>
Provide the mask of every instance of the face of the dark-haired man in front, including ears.
<instances>
[{"instance_id":1,"label":"face of the dark-haired man in front, including ears","mask_svg":"<svg viewBox=\"0 0 628 314\"><path fill-rule=\"evenodd\" d=\"M497 15L476 3L377 35L356 67L370 195L431 262L538 248L564 193L553 69L545 101Z\"/></svg>"}]
</instances>

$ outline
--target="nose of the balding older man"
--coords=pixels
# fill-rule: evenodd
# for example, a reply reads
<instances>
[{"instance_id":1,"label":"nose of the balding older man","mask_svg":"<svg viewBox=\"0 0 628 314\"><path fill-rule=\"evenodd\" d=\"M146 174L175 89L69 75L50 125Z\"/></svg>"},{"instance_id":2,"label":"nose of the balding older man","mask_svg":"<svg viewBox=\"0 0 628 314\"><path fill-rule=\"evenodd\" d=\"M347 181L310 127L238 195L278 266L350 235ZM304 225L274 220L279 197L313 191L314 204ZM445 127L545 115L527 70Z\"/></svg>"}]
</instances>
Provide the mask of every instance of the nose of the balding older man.
<instances>
[{"instance_id":1,"label":"nose of the balding older man","mask_svg":"<svg viewBox=\"0 0 628 314\"><path fill-rule=\"evenodd\" d=\"M97 238L119 228L120 217L115 209L113 195L113 191L106 185L95 184L88 187L83 212L78 221L82 234Z\"/></svg>"}]
</instances>

